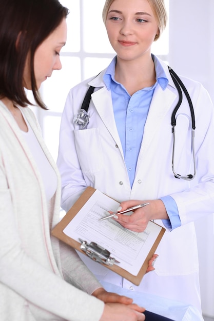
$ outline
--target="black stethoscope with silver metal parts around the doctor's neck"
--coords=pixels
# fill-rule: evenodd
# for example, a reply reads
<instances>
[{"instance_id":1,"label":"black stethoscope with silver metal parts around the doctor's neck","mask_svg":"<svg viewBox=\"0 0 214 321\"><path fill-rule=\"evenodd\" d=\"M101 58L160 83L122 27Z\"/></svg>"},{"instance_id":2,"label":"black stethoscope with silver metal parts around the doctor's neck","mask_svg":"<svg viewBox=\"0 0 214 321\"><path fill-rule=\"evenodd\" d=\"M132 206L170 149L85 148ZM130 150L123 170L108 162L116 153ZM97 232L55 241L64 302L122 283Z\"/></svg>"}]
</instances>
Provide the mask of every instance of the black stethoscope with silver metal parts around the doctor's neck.
<instances>
[{"instance_id":1,"label":"black stethoscope with silver metal parts around the doctor's neck","mask_svg":"<svg viewBox=\"0 0 214 321\"><path fill-rule=\"evenodd\" d=\"M196 176L196 153L194 150L194 130L196 129L196 122L194 119L194 109L193 109L193 105L192 105L192 101L189 96L189 93L188 93L186 87L184 86L183 82L181 81L179 76L171 69L171 67L168 67L168 68L169 68L169 73L172 77L172 81L173 81L174 85L176 86L178 93L179 93L178 104L174 108L172 115L171 115L171 126L172 126L172 135L173 135L172 172L174 174L174 177L176 177L176 178L183 178L185 180L192 180ZM193 174L187 174L187 175L180 175L174 169L174 151L176 149L176 131L175 131L176 113L179 110L179 107L181 106L181 103L183 100L182 90L183 90L183 92L187 98L188 104L189 104L189 109L190 109L190 113L191 113L191 123L192 123L192 127L191 127L191 154L192 154L192 159L193 159ZM87 112L88 112L88 107L90 104L91 94L93 93L93 91L94 91L94 87L90 86L86 92L86 95L84 97L83 104L81 106L79 113L77 113L77 115L74 116L73 123L79 125L80 129L86 128L89 123L89 115L87 114Z\"/></svg>"}]
</instances>

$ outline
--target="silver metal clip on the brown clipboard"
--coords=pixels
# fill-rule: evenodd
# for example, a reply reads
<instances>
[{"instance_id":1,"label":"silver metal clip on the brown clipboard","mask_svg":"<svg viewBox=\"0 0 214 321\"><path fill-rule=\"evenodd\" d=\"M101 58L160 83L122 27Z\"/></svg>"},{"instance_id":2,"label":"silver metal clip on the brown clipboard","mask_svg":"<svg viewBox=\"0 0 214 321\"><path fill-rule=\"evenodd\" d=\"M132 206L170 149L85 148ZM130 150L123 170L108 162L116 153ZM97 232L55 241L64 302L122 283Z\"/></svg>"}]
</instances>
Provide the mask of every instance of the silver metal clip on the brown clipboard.
<instances>
[{"instance_id":1,"label":"silver metal clip on the brown clipboard","mask_svg":"<svg viewBox=\"0 0 214 321\"><path fill-rule=\"evenodd\" d=\"M91 242L88 244L83 239L79 238L82 243L80 248L83 250L91 259L96 262L103 263L108 266L112 266L114 263L120 263L114 257L110 257L110 252L100 245Z\"/></svg>"}]
</instances>

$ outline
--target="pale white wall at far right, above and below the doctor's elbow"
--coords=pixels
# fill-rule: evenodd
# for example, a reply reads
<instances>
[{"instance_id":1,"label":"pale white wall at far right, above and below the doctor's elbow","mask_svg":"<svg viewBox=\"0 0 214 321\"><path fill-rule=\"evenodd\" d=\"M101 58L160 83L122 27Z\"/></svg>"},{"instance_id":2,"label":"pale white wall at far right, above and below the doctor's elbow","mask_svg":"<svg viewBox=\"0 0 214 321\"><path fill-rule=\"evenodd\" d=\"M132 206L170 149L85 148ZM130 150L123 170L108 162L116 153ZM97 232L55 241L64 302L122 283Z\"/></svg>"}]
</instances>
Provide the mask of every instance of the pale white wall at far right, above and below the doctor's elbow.
<instances>
[{"instance_id":1,"label":"pale white wall at far right, above and below the doctor's elbow","mask_svg":"<svg viewBox=\"0 0 214 321\"><path fill-rule=\"evenodd\" d=\"M214 102L213 16L213 0L170 0L169 64L177 73L201 82ZM197 124L196 130L200 130ZM196 229L202 310L214 317L213 216L196 222Z\"/></svg>"}]
</instances>

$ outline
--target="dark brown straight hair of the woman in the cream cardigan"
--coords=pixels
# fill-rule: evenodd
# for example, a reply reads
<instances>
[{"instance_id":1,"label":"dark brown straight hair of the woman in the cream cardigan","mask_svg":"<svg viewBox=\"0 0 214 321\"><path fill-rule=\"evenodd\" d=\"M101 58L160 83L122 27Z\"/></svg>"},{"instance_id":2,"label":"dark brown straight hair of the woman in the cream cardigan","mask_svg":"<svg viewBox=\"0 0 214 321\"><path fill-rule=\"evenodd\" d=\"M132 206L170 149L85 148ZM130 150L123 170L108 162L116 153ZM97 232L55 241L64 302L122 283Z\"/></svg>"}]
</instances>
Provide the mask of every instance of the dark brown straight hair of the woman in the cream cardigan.
<instances>
[{"instance_id":1,"label":"dark brown straight hair of the woman in the cream cardigan","mask_svg":"<svg viewBox=\"0 0 214 321\"><path fill-rule=\"evenodd\" d=\"M58 0L0 0L0 97L23 107L32 105L23 85L29 54L33 96L46 108L36 88L34 54L67 14Z\"/></svg>"}]
</instances>

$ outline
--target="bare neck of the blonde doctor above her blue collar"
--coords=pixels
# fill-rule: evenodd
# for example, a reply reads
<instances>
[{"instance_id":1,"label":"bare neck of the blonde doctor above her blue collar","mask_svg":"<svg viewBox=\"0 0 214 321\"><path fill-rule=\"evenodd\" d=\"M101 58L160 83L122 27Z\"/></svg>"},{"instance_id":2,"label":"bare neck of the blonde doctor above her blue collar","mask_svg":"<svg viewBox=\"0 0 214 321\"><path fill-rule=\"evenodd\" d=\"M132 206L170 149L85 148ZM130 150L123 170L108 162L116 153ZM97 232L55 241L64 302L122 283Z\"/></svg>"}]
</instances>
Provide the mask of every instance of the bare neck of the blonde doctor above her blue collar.
<instances>
[{"instance_id":1,"label":"bare neck of the blonde doctor above her blue collar","mask_svg":"<svg viewBox=\"0 0 214 321\"><path fill-rule=\"evenodd\" d=\"M121 83L130 95L153 86L156 82L156 73L152 57L141 61L141 64L118 58L115 65L115 80Z\"/></svg>"}]
</instances>

